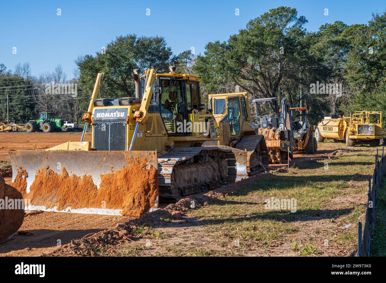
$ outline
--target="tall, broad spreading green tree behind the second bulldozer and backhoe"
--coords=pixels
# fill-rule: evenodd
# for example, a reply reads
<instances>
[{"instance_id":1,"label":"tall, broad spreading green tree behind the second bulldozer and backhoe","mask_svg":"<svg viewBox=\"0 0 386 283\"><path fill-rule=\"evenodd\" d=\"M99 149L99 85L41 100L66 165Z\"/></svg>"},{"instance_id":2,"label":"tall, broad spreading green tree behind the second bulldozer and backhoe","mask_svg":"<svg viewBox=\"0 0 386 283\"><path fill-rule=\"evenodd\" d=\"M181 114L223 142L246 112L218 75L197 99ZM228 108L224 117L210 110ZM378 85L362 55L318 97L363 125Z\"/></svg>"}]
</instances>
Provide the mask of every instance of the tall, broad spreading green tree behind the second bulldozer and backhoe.
<instances>
[{"instance_id":1,"label":"tall, broad spreading green tree behind the second bulldozer and backhoe","mask_svg":"<svg viewBox=\"0 0 386 283\"><path fill-rule=\"evenodd\" d=\"M278 7L248 22L226 42L210 42L199 55L195 72L207 92L245 90L251 98L287 96L298 105L300 88L322 72L311 54L316 37L305 28L305 17L294 8Z\"/></svg>"}]
</instances>

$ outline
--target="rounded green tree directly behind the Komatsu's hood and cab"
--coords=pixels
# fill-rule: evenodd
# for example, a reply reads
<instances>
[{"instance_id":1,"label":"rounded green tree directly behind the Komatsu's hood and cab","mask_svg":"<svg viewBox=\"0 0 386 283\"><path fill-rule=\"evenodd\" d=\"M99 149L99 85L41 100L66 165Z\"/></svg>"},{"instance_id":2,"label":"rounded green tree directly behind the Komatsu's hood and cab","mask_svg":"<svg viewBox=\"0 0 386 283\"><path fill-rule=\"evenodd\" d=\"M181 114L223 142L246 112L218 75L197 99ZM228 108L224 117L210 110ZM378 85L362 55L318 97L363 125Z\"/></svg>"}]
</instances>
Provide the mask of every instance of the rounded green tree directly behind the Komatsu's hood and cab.
<instances>
[{"instance_id":1,"label":"rounded green tree directly behind the Komatsu's hood and cab","mask_svg":"<svg viewBox=\"0 0 386 283\"><path fill-rule=\"evenodd\" d=\"M168 71L171 48L163 37L138 37L135 34L121 35L107 44L95 56L85 55L75 60L80 70L83 95L90 96L98 72L105 72L103 94L105 97L133 96L133 70L143 74L147 68L157 72ZM88 102L84 101L83 109Z\"/></svg>"}]
</instances>

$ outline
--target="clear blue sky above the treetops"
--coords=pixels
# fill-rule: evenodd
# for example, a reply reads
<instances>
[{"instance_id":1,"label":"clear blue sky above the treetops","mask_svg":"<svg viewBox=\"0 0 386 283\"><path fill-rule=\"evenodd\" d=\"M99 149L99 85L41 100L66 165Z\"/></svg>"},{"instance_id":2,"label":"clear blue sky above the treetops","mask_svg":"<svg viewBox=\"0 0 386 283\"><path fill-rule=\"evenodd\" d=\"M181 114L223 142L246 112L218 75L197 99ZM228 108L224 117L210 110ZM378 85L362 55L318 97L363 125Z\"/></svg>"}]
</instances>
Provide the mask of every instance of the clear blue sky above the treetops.
<instances>
[{"instance_id":1,"label":"clear blue sky above the treetops","mask_svg":"<svg viewBox=\"0 0 386 283\"><path fill-rule=\"evenodd\" d=\"M367 23L386 1L9 1L0 0L0 63L13 70L29 62L33 75L61 64L73 76L78 55L95 54L118 35L160 35L174 54L227 40L246 23L271 8L289 6L307 18L306 29L341 20ZM57 9L61 9L61 16ZM150 9L150 16L146 9ZM235 9L239 9L239 16ZM328 8L328 16L324 9ZM12 48L17 47L17 54Z\"/></svg>"}]
</instances>

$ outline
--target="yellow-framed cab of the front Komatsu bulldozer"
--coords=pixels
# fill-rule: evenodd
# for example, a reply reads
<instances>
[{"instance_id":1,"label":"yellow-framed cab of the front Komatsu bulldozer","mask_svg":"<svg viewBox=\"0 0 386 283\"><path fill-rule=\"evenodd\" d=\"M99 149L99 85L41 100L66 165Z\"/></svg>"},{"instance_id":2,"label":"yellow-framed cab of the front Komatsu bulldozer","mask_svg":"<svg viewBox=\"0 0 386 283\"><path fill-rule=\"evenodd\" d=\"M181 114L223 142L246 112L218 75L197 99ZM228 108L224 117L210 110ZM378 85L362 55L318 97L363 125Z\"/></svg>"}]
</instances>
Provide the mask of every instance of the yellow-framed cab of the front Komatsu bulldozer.
<instances>
[{"instance_id":1,"label":"yellow-framed cab of the front Komatsu bulldozer","mask_svg":"<svg viewBox=\"0 0 386 283\"><path fill-rule=\"evenodd\" d=\"M142 99L146 75L142 75L140 80L138 98ZM194 75L179 74L174 69L169 73L156 74L149 109L161 115L158 124L164 125L164 135L174 137L175 142L178 140L181 143L182 137L216 139L219 134L211 112L205 104L201 104L200 81ZM154 120L157 119L154 115Z\"/></svg>"}]
</instances>

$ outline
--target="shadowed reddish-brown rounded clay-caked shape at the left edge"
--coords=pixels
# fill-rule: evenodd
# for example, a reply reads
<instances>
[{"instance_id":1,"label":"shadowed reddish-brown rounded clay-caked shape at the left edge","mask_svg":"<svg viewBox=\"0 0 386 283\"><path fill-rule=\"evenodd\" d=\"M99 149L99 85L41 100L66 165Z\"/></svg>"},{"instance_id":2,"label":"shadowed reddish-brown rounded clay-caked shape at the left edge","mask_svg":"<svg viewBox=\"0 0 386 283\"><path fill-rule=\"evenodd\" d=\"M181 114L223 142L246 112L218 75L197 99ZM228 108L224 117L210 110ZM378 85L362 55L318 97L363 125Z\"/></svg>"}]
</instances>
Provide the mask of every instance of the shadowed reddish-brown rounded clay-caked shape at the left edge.
<instances>
[{"instance_id":1,"label":"shadowed reddish-brown rounded clay-caked shape at the left edge","mask_svg":"<svg viewBox=\"0 0 386 283\"><path fill-rule=\"evenodd\" d=\"M23 224L24 206L19 204L24 205L22 194L5 184L0 175L0 244L7 241Z\"/></svg>"}]
</instances>

